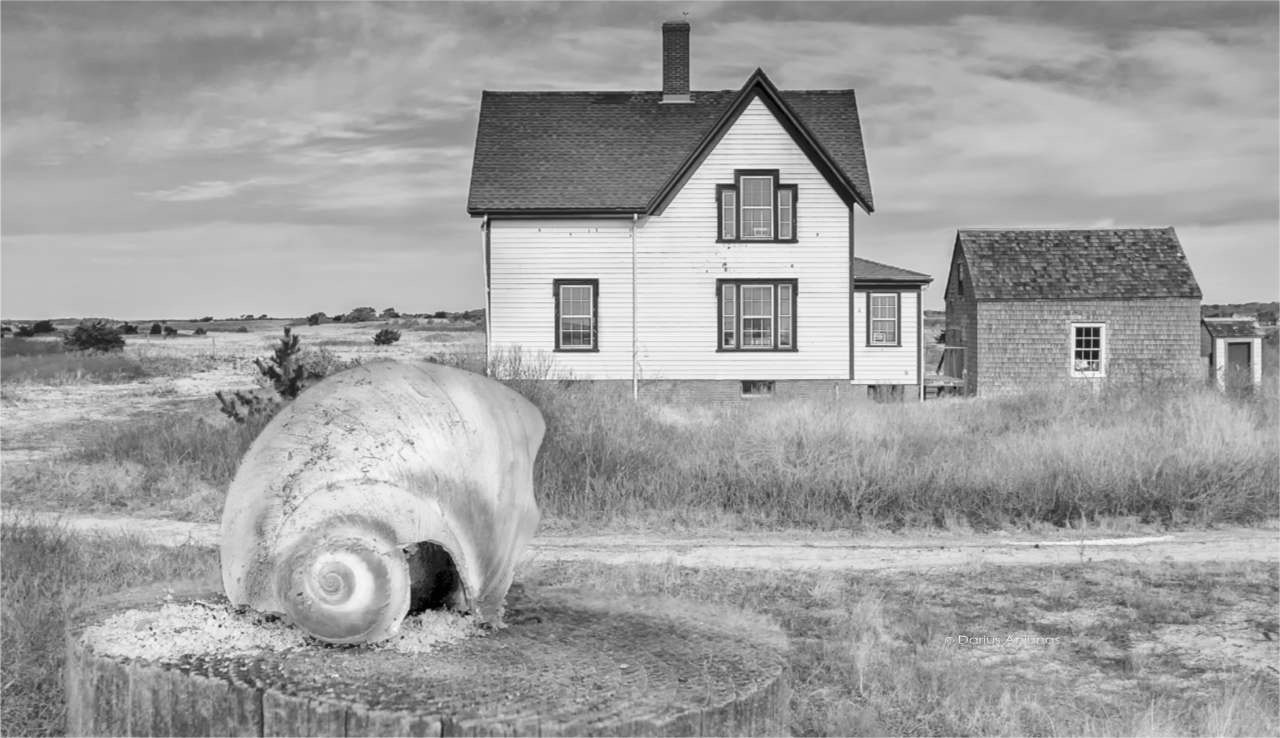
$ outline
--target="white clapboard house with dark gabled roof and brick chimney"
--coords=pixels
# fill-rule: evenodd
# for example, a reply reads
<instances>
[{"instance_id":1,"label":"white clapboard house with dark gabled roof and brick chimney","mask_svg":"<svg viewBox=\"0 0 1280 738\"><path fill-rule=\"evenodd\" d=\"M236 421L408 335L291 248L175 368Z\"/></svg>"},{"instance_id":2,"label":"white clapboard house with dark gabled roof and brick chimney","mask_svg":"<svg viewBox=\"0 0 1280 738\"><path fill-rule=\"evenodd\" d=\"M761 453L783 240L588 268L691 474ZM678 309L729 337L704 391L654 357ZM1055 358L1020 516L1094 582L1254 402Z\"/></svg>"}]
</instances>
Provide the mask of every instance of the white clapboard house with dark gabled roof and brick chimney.
<instances>
[{"instance_id":1,"label":"white clapboard house with dark gabled roof and brick chimney","mask_svg":"<svg viewBox=\"0 0 1280 738\"><path fill-rule=\"evenodd\" d=\"M668 400L922 382L928 275L855 257L873 210L852 90L484 92L467 210L488 349Z\"/></svg>"}]
</instances>

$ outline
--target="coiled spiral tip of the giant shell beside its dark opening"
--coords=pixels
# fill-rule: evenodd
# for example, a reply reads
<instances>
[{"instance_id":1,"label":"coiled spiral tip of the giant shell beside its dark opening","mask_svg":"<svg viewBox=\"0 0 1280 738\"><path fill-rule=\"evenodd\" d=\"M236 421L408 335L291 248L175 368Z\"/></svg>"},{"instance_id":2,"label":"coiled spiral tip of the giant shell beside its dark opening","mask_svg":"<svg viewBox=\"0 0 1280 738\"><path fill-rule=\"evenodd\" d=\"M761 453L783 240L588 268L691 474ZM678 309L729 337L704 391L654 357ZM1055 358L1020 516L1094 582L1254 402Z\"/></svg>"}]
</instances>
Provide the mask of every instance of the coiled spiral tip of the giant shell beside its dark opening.
<instances>
[{"instance_id":1,"label":"coiled spiral tip of the giant shell beside its dark opening","mask_svg":"<svg viewBox=\"0 0 1280 738\"><path fill-rule=\"evenodd\" d=\"M410 605L404 555L378 526L358 522L300 541L276 569L285 614L330 643L393 636Z\"/></svg>"}]
</instances>

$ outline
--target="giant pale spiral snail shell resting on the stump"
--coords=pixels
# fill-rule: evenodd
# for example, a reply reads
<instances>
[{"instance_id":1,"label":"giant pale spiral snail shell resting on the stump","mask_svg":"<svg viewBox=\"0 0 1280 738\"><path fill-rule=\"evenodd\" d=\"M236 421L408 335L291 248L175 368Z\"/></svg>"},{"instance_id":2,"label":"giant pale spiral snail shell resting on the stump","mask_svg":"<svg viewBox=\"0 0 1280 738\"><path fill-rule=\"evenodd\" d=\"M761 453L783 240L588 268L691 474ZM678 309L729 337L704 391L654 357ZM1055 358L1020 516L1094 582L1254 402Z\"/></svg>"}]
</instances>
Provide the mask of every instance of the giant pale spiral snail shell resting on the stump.
<instances>
[{"instance_id":1,"label":"giant pale spiral snail shell resting on the stump","mask_svg":"<svg viewBox=\"0 0 1280 738\"><path fill-rule=\"evenodd\" d=\"M232 482L227 597L330 643L385 640L411 605L500 624L538 526L544 428L516 391L439 365L325 379L271 420Z\"/></svg>"}]
</instances>

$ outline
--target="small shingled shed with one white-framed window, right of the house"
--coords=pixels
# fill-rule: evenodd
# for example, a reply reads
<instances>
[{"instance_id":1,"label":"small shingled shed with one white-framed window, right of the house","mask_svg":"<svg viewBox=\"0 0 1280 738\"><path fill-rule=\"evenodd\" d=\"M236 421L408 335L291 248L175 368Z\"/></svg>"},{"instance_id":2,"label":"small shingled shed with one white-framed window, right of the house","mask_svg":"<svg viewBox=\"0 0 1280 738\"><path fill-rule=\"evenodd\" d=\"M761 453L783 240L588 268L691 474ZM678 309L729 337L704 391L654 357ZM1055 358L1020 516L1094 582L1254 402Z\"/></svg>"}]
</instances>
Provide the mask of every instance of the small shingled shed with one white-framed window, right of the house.
<instances>
[{"instance_id":1,"label":"small shingled shed with one white-framed window, right of the house","mask_svg":"<svg viewBox=\"0 0 1280 738\"><path fill-rule=\"evenodd\" d=\"M1199 302L1172 228L960 230L943 371L970 395L1193 381Z\"/></svg>"}]
</instances>

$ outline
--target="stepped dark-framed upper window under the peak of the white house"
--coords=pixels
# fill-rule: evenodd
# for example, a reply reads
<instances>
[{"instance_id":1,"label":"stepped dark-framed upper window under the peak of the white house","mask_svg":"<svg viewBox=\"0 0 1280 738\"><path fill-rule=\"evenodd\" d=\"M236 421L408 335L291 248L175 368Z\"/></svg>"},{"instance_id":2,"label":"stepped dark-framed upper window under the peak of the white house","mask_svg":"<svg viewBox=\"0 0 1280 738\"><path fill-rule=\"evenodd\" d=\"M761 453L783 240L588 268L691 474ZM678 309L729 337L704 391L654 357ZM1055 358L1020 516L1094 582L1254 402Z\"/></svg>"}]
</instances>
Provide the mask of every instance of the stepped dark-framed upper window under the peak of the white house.
<instances>
[{"instance_id":1,"label":"stepped dark-framed upper window under the peak of the white house","mask_svg":"<svg viewBox=\"0 0 1280 738\"><path fill-rule=\"evenodd\" d=\"M796 239L796 185L777 169L739 169L733 184L716 187L717 240Z\"/></svg>"}]
</instances>

